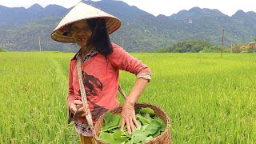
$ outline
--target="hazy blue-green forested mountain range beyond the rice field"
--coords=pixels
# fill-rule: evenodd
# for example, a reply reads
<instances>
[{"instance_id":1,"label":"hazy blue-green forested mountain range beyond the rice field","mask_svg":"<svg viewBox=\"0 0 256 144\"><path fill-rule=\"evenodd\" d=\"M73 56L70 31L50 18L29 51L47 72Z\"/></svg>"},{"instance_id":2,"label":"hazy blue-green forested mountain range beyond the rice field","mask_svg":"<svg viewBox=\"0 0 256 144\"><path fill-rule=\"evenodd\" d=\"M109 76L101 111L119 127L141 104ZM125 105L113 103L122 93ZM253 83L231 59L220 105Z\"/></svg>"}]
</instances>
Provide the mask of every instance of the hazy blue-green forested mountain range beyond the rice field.
<instances>
[{"instance_id":1,"label":"hazy blue-green forested mountain range beyond the rice field","mask_svg":"<svg viewBox=\"0 0 256 144\"><path fill-rule=\"evenodd\" d=\"M84 2L122 20L121 29L110 38L129 52L154 51L190 39L221 45L223 29L226 46L230 46L231 41L250 42L256 37L254 12L238 10L229 17L217 9L194 7L170 16L155 17L122 1ZM51 31L69 10L57 5L43 8L35 4L28 9L0 6L0 46L6 50L39 50L40 39L42 50L75 52L78 46L54 42L50 38Z\"/></svg>"}]
</instances>

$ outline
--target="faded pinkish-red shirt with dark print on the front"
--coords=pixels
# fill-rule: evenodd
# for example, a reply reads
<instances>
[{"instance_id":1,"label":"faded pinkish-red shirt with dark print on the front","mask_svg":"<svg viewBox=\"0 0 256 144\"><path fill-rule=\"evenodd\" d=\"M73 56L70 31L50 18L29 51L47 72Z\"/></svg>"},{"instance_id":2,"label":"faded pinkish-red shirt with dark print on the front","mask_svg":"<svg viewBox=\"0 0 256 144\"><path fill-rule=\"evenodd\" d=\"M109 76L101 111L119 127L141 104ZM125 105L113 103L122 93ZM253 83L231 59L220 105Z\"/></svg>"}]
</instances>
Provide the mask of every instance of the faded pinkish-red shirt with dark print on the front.
<instances>
[{"instance_id":1,"label":"faded pinkish-red shirt with dark print on the front","mask_svg":"<svg viewBox=\"0 0 256 144\"><path fill-rule=\"evenodd\" d=\"M82 78L94 122L107 110L118 106L119 70L126 70L136 75L148 74L149 77L151 76L150 69L145 64L132 57L122 47L114 43L112 46L113 53L107 58L103 54L95 54L81 64ZM77 58L72 58L69 72L68 104L75 99L81 100L76 63ZM86 123L85 118L78 119Z\"/></svg>"}]
</instances>

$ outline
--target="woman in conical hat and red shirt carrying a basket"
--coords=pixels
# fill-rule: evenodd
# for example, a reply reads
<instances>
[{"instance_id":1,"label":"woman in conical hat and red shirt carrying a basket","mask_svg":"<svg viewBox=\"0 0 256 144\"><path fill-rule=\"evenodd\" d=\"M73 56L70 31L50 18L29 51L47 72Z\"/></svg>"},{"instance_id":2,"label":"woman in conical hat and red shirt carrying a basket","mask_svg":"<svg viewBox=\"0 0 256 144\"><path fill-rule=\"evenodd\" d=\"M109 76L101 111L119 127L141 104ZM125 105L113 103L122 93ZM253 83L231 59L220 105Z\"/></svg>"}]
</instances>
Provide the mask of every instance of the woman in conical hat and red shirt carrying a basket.
<instances>
[{"instance_id":1,"label":"woman in conical hat and red shirt carrying a basket","mask_svg":"<svg viewBox=\"0 0 256 144\"><path fill-rule=\"evenodd\" d=\"M130 56L120 46L110 42L109 34L121 26L118 18L88 6L82 2L74 6L54 30L51 38L58 42L76 42L80 50L70 60L69 95L67 98L70 117L82 143L94 143L85 116L90 110L93 122L107 110L118 106L118 74L126 70L137 78L130 94L122 105L123 130L126 125L130 134L138 126L134 104L150 81L150 69ZM77 62L81 61L82 82L88 104L81 101ZM81 108L77 109L77 106Z\"/></svg>"}]
</instances>

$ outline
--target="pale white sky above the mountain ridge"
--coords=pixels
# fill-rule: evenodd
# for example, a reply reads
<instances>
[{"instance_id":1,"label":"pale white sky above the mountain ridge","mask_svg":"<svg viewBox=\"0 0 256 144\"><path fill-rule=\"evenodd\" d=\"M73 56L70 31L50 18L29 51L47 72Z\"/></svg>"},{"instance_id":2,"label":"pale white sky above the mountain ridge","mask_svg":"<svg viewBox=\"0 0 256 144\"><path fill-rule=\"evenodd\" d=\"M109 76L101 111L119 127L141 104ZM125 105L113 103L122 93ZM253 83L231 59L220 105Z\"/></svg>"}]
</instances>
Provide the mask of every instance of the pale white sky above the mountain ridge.
<instances>
[{"instance_id":1,"label":"pale white sky above the mountain ridge","mask_svg":"<svg viewBox=\"0 0 256 144\"><path fill-rule=\"evenodd\" d=\"M28 8L34 3L45 7L49 4L58 4L69 8L80 0L0 0L0 5L7 7ZM150 14L170 16L180 10L190 10L194 6L200 8L218 9L223 14L233 15L237 10L256 11L256 0L122 0L130 6L137 6Z\"/></svg>"}]
</instances>

